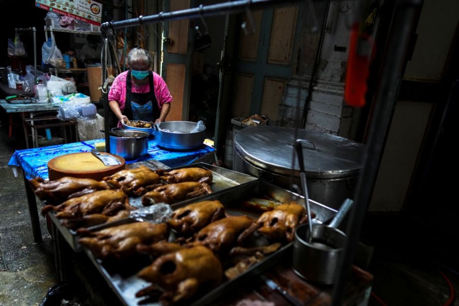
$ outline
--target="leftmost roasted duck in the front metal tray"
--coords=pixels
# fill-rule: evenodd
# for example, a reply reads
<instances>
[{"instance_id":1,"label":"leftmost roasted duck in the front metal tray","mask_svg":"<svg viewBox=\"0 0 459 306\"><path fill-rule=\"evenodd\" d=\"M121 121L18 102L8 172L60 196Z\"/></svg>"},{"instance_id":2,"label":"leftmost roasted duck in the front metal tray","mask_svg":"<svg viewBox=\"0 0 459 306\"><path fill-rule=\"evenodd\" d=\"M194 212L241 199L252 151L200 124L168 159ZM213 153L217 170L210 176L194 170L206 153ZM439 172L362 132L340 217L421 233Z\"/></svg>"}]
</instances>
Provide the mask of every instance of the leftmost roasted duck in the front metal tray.
<instances>
[{"instance_id":1,"label":"leftmost roasted duck in the front metal tray","mask_svg":"<svg viewBox=\"0 0 459 306\"><path fill-rule=\"evenodd\" d=\"M90 249L94 257L123 259L134 254L139 243L149 244L167 239L168 228L165 223L134 222L88 234L93 237L83 237L78 242Z\"/></svg>"}]
</instances>

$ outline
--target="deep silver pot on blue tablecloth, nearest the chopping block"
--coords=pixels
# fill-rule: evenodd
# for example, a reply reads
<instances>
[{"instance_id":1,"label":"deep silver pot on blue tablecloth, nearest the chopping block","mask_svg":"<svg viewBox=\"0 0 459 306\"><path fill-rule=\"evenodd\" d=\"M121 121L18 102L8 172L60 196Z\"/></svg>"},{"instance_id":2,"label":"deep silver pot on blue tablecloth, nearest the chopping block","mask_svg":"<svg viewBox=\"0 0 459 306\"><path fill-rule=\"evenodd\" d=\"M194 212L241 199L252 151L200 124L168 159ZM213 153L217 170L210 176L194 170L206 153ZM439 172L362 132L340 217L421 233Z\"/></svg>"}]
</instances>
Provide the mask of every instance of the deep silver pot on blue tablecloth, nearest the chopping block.
<instances>
[{"instance_id":1,"label":"deep silver pot on blue tablecloth, nearest the chopping block","mask_svg":"<svg viewBox=\"0 0 459 306\"><path fill-rule=\"evenodd\" d=\"M138 130L117 130L110 132L110 153L132 160L148 153L148 136Z\"/></svg>"}]
</instances>

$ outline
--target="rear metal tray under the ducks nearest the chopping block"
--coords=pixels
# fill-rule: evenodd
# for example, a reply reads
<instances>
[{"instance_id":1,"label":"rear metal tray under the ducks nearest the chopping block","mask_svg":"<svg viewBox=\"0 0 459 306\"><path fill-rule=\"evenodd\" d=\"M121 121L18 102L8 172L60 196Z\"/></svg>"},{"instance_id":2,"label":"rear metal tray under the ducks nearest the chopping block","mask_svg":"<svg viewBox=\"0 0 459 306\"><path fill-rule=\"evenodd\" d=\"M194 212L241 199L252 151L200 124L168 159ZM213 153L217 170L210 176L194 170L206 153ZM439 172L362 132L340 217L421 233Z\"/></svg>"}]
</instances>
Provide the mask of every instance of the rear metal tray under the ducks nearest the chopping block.
<instances>
[{"instance_id":1,"label":"rear metal tray under the ducks nearest the chopping block","mask_svg":"<svg viewBox=\"0 0 459 306\"><path fill-rule=\"evenodd\" d=\"M228 170L222 167L217 167L217 166L213 166L213 165L206 164L206 163L194 163L194 164L190 164L190 165L186 165L182 167L168 168L165 170L182 169L182 168L189 168L189 167L206 168L212 171L213 181L210 186L211 186L213 193L210 195L217 194L221 191L229 190L231 188L258 180L257 177L254 177L248 174L236 172L233 170ZM210 195L198 196L192 199L177 202L176 204L177 205L187 205L189 203L198 201L201 198L204 198ZM129 201L130 201L131 206L138 207L138 208L143 207L141 199L142 199L141 196L140 197L130 197ZM64 239L67 241L67 243L70 245L70 247L75 252L81 251L82 248L80 244L78 243L78 239L80 238L80 236L77 234L77 232L75 232L74 230L71 230L70 228L62 226L60 220L55 216L54 212L49 212L48 215L53 220L53 223L55 224L59 232L62 234ZM88 227L88 230L96 231L102 228L101 226L106 226L106 224L110 224L110 223L114 223L114 222L91 226L91 227Z\"/></svg>"}]
</instances>

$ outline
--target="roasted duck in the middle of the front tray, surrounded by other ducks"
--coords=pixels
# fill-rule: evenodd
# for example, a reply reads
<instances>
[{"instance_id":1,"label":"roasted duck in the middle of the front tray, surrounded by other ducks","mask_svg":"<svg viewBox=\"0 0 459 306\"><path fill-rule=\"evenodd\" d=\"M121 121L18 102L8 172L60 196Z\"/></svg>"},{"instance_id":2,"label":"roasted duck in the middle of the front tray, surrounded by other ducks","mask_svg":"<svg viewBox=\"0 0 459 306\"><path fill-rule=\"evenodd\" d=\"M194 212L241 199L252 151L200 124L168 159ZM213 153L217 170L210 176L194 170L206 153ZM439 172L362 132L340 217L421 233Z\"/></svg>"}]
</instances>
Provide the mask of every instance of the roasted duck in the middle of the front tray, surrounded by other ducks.
<instances>
[{"instance_id":1,"label":"roasted duck in the middle of the front tray, surrounded by other ducks","mask_svg":"<svg viewBox=\"0 0 459 306\"><path fill-rule=\"evenodd\" d=\"M253 221L248 216L230 216L217 220L202 228L191 243L205 245L214 252L228 250Z\"/></svg>"}]
</instances>

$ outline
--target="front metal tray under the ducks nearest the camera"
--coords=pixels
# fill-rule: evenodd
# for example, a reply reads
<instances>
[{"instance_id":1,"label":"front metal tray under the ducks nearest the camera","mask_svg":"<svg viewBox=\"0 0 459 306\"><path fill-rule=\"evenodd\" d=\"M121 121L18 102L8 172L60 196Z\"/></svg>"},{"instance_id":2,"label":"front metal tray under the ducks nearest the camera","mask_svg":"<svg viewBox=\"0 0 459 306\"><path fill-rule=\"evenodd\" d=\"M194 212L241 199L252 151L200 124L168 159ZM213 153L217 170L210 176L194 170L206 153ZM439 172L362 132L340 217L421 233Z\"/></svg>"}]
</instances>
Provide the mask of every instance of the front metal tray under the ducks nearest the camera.
<instances>
[{"instance_id":1,"label":"front metal tray under the ducks nearest the camera","mask_svg":"<svg viewBox=\"0 0 459 306\"><path fill-rule=\"evenodd\" d=\"M233 189L228 189L219 193L212 194L207 196L205 199L196 199L195 202L201 200L211 200L217 199L220 200L223 205L225 206L225 210L230 215L238 215L238 214L246 214L246 215L261 215L262 212L259 214L255 213L248 213L244 208L240 207L240 203L243 200L253 197L253 196L265 196L269 197L275 201L279 202L289 202L289 201L296 201L299 204L304 204L304 198L290 192L288 190L282 189L265 181L256 180L249 182L247 184L238 186ZM177 209L187 205L186 203L177 203L175 205L171 205L171 208ZM310 200L311 210L312 212L316 213L316 217L313 219L313 222L316 223L327 223L336 215L337 211L326 206L321 205L320 203ZM120 224L125 224L127 222L137 222L136 220L120 220L119 222L113 222L112 224L104 224L103 228L107 228L110 226L116 226ZM102 227L99 227L102 229ZM238 287L240 287L243 283L246 283L251 278L256 277L269 268L273 267L275 264L281 260L283 254L292 248L293 243L288 243L283 246L281 249L278 249L276 252L267 256L261 262L251 266L247 271L240 274L239 276L227 280L220 284L218 287L214 288L213 290L208 291L205 295L202 295L198 299L192 301L191 305L198 306L203 304L211 304L217 298L223 296L224 294L228 294L234 292ZM148 282L143 281L136 276L138 271L133 270L131 274L119 273L113 269L113 265L106 266L106 264L98 259L95 259L88 249L85 249L88 257L91 259L93 264L95 265L96 269L104 276L106 279L107 285L115 291L115 294L119 297L120 302L124 305L128 306L137 306L139 302L141 302L142 298L137 298L135 296L136 292L139 290L147 287L149 285ZM131 261L133 262L133 261ZM125 266L124 264L118 264L116 267ZM159 302L151 302L146 303L146 305L161 305Z\"/></svg>"}]
</instances>

